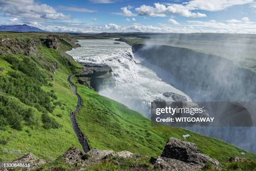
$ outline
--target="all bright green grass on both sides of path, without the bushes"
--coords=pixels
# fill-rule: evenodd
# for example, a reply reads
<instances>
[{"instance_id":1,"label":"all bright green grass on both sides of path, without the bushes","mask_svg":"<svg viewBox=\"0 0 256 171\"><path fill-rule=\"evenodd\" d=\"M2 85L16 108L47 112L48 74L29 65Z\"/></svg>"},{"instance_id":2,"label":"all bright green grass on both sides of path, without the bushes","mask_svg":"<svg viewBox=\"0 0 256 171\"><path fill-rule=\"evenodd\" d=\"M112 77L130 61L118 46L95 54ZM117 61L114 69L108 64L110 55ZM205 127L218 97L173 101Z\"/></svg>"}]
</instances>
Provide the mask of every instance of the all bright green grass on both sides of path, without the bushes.
<instances>
[{"instance_id":1,"label":"all bright green grass on both sides of path, without the bushes","mask_svg":"<svg viewBox=\"0 0 256 171\"><path fill-rule=\"evenodd\" d=\"M20 35L22 38L26 37L28 39L50 35L50 33L1 33L0 37L3 34L8 34L8 37L11 38L15 38L15 35ZM61 35L58 34L57 36ZM38 125L28 125L23 122L22 130L5 127L4 130L0 130L0 161L12 161L26 153L33 153L38 158L52 160L71 146L81 149L69 119L70 112L77 105L77 97L72 94L67 83L67 77L79 71L82 66L64 53L64 51L72 47L72 43L69 43L70 40L72 38L63 34L63 38L61 38L56 50L39 45L36 47L36 52L28 56L29 59L35 62L40 71L47 75L48 83L42 85L41 89L45 92L52 91L57 96L57 100L54 101L56 102L55 108L53 112L49 112L49 116L54 118L61 126L56 129L44 129L40 120ZM6 49L2 46L1 50L4 51ZM18 52L19 50L17 49ZM19 60L25 58L20 53L12 55ZM49 67L54 62L59 66L55 74L49 71ZM9 72L13 71L12 65L4 60L3 55L0 56L0 67L5 69L0 72L3 77L9 77ZM54 81L51 78L54 78ZM202 153L221 162L227 161L231 156L256 159L255 154L236 148L234 145L225 143L222 140L209 138L182 128L152 127L150 120L140 113L130 110L125 105L107 97L100 96L97 92L78 84L75 78L72 81L77 85L77 91L81 95L83 103L82 109L77 113L79 127L87 136L91 148L111 149L114 151L127 150L139 153L142 156L156 157L161 154L166 141L170 137L175 137L196 143ZM38 115L38 118L42 115L42 112L35 107L26 105L10 94L0 90L0 95L11 98L24 108L32 107L35 110L34 114ZM187 133L191 136L184 139L182 135ZM245 155L242 155L241 152L244 152ZM72 170L74 168L73 165L64 165L61 163L63 161L52 162L49 163L47 168L63 167L63 170ZM129 166L132 164L133 161L130 161ZM115 163L101 163L100 165L95 166L98 168L90 169L97 170L105 167L111 170L112 167L119 169L118 167L120 166L119 164L118 166L115 165Z\"/></svg>"}]
</instances>

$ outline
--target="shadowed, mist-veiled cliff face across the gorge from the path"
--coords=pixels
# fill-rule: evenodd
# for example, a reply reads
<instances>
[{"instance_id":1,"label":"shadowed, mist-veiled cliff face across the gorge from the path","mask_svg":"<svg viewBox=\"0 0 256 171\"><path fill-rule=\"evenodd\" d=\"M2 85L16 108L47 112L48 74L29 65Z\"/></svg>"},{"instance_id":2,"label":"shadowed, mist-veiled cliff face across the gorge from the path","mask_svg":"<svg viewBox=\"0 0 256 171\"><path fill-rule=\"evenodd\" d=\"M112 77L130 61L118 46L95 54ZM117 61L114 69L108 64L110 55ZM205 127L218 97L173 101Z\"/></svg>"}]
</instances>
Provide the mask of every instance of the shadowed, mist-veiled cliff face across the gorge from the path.
<instances>
[{"instance_id":1,"label":"shadowed, mist-veiled cliff face across the gorge from the path","mask_svg":"<svg viewBox=\"0 0 256 171\"><path fill-rule=\"evenodd\" d=\"M256 99L256 73L233 61L188 48L173 46L133 46L135 55L164 71L165 82L174 85L194 101L246 101ZM152 68L154 70L154 68Z\"/></svg>"}]
</instances>

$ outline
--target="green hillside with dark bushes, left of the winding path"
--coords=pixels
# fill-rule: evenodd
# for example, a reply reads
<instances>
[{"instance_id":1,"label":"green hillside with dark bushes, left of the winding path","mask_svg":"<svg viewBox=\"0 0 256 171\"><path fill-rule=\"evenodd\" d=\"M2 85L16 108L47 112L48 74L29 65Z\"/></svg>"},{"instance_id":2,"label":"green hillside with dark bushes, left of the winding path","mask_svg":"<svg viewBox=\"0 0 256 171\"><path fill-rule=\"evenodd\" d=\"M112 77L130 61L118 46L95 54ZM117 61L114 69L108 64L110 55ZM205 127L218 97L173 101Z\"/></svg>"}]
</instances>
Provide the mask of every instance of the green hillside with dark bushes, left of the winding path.
<instances>
[{"instance_id":1,"label":"green hillside with dark bushes, left of the winding path","mask_svg":"<svg viewBox=\"0 0 256 171\"><path fill-rule=\"evenodd\" d=\"M18 41L33 46L27 43L33 35L21 36L26 40ZM17 53L8 46L12 45L0 47L8 52L0 55L0 68L4 68L0 72L0 161L26 153L50 160L72 145L81 148L69 119L77 97L67 83L67 77L81 66L61 55L72 44L61 40L56 50L39 44L29 55L18 46L12 46ZM49 71L54 62L55 74Z\"/></svg>"}]
</instances>

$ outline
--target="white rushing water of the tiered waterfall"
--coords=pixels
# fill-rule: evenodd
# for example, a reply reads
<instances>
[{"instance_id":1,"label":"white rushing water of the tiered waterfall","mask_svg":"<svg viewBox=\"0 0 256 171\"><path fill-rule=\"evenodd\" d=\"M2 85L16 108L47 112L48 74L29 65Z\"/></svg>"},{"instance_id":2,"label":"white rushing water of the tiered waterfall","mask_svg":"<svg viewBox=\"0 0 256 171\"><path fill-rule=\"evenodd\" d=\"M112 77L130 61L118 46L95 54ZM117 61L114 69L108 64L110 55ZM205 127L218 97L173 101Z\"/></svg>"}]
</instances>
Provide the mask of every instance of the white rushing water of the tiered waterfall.
<instances>
[{"instance_id":1,"label":"white rushing water of the tiered waterfall","mask_svg":"<svg viewBox=\"0 0 256 171\"><path fill-rule=\"evenodd\" d=\"M116 100L129 108L150 117L150 102L156 98L172 101L163 92L184 94L163 82L156 73L140 64L140 58L133 56L131 46L124 42L115 44L113 39L80 40L81 47L68 51L77 61L107 64L113 70L114 87L103 87L99 94Z\"/></svg>"}]
</instances>

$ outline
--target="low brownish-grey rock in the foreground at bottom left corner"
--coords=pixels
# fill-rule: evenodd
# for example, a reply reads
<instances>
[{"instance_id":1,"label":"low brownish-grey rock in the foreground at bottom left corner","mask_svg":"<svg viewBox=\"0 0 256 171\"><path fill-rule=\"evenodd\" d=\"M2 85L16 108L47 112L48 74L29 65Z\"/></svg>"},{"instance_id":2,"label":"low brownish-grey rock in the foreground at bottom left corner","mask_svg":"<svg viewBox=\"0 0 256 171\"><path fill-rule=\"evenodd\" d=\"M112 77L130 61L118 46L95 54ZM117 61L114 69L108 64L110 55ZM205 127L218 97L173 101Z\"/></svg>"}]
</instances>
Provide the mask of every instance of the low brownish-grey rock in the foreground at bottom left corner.
<instances>
[{"instance_id":1,"label":"low brownish-grey rock in the foreground at bottom left corner","mask_svg":"<svg viewBox=\"0 0 256 171\"><path fill-rule=\"evenodd\" d=\"M30 170L38 167L41 164L47 163L47 161L45 161L44 159L38 159L33 154L28 153L25 156L12 161L12 163L30 163L31 166L29 168L25 168L25 170Z\"/></svg>"}]
</instances>

